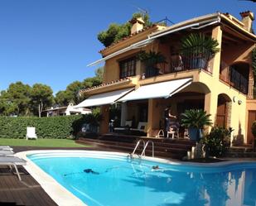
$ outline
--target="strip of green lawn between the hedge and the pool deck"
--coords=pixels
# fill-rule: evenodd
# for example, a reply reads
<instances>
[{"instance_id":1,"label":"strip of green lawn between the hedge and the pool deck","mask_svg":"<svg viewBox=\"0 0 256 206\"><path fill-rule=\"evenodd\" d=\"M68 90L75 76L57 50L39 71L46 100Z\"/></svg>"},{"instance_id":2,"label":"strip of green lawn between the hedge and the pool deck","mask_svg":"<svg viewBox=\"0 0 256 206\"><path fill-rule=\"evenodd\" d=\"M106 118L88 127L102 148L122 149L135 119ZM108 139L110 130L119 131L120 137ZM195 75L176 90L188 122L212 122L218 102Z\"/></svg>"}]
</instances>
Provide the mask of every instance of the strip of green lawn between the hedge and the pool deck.
<instances>
[{"instance_id":1,"label":"strip of green lawn between the hedge and the pool deck","mask_svg":"<svg viewBox=\"0 0 256 206\"><path fill-rule=\"evenodd\" d=\"M75 143L74 140L69 139L9 139L0 138L0 145L2 146L43 146L43 147L89 147Z\"/></svg>"}]
</instances>

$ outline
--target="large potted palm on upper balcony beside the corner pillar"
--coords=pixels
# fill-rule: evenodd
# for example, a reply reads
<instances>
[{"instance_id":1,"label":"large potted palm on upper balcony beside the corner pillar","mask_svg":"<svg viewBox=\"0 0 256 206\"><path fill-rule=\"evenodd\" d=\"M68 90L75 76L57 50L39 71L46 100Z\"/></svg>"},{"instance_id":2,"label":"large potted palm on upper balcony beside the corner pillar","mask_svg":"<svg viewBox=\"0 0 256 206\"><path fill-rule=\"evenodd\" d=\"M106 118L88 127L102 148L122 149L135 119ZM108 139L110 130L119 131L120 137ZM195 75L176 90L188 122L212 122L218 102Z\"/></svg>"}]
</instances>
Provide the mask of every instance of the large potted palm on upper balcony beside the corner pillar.
<instances>
[{"instance_id":1,"label":"large potted palm on upper balcony beside the corner pillar","mask_svg":"<svg viewBox=\"0 0 256 206\"><path fill-rule=\"evenodd\" d=\"M218 41L210 36L191 33L181 39L181 55L189 69L205 69L210 58L220 51L218 46Z\"/></svg>"}]
</instances>

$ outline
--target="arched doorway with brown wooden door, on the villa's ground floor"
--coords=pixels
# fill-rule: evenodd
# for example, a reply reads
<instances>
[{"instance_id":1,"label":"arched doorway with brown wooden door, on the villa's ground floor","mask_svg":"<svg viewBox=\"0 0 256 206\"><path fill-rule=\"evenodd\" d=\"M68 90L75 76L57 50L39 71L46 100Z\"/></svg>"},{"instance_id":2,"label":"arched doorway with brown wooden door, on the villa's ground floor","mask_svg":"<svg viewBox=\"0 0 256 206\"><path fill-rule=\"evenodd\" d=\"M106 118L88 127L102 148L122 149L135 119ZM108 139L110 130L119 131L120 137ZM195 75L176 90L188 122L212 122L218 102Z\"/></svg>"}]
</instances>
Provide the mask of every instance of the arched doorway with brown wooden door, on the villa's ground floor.
<instances>
[{"instance_id":1,"label":"arched doorway with brown wooden door, on the villa's ground floor","mask_svg":"<svg viewBox=\"0 0 256 206\"><path fill-rule=\"evenodd\" d=\"M218 95L217 116L215 125L218 127L230 126L232 101L225 93Z\"/></svg>"}]
</instances>

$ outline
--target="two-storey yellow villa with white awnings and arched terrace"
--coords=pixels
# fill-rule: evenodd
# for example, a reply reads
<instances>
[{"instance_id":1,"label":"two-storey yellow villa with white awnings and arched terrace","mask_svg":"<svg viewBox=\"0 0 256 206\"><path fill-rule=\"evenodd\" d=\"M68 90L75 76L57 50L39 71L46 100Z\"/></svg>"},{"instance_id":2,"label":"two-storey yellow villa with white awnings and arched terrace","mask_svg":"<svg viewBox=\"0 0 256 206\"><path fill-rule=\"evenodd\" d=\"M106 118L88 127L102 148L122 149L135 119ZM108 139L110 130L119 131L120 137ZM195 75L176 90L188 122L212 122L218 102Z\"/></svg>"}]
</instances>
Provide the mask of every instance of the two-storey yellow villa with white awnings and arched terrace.
<instances>
[{"instance_id":1,"label":"two-storey yellow villa with white awnings and arched terrace","mask_svg":"<svg viewBox=\"0 0 256 206\"><path fill-rule=\"evenodd\" d=\"M80 91L89 96L80 106L101 106L104 121L99 132L104 134L109 132L109 105L120 103L120 127L132 119L136 125L145 122L138 129L147 137L156 137L163 128L165 108L171 107L178 119L186 109L201 108L211 114L215 125L234 129L234 143L251 144L250 127L256 117L254 13L240 16L241 21L216 12L172 26L148 27L142 18L133 19L131 35L100 50L103 58L90 64L105 62L104 83ZM182 54L181 40L191 33L210 36L218 41L220 51L212 56ZM138 60L142 51L162 54L166 61L148 67Z\"/></svg>"}]
</instances>

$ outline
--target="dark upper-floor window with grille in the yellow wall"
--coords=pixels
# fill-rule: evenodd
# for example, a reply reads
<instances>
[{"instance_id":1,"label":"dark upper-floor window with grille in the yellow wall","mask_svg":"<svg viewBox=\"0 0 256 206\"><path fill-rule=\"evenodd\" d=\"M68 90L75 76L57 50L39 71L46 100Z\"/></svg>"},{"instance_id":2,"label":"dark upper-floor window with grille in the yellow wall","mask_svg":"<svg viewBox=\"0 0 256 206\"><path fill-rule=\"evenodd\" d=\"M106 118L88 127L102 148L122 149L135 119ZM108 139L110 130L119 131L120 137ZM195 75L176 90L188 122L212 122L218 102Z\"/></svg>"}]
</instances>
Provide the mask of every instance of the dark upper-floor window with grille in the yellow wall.
<instances>
[{"instance_id":1,"label":"dark upper-floor window with grille in the yellow wall","mask_svg":"<svg viewBox=\"0 0 256 206\"><path fill-rule=\"evenodd\" d=\"M120 79L134 76L136 71L136 58L129 58L127 60L120 61Z\"/></svg>"}]
</instances>

